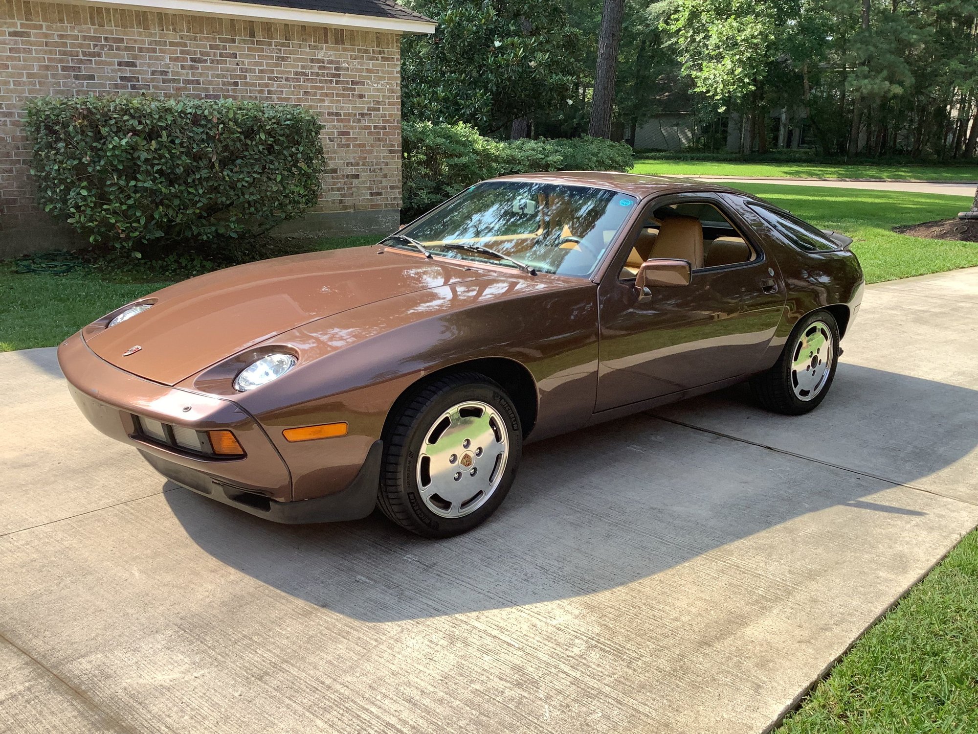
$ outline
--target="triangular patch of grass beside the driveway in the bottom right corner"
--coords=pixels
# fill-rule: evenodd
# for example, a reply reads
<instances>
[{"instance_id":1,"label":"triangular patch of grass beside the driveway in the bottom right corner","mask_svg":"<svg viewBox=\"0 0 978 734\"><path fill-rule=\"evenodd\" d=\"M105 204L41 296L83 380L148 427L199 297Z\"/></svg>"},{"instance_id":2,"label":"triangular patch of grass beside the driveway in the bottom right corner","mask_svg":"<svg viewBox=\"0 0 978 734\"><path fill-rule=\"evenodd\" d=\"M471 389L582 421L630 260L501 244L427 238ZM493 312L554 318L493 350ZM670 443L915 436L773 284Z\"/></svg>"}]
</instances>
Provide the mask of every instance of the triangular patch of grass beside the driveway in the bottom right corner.
<instances>
[{"instance_id":1,"label":"triangular patch of grass beside the driveway in the bottom right corner","mask_svg":"<svg viewBox=\"0 0 978 734\"><path fill-rule=\"evenodd\" d=\"M978 731L978 531L861 637L777 734Z\"/></svg>"}]
</instances>

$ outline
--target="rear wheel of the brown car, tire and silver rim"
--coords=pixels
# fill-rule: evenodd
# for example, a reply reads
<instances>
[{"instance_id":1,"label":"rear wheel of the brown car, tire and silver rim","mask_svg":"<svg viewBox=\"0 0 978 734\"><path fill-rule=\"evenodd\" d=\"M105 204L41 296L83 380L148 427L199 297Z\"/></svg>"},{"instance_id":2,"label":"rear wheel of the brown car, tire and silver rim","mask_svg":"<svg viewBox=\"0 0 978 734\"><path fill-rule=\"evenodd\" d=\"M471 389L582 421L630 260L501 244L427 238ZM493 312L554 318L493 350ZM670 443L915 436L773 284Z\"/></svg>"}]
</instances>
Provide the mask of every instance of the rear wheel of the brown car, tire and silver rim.
<instances>
[{"instance_id":1,"label":"rear wheel of the brown car, tire and silver rim","mask_svg":"<svg viewBox=\"0 0 978 734\"><path fill-rule=\"evenodd\" d=\"M798 322L775 366L751 378L750 387L768 410L801 415L825 398L838 359L838 324L828 311L816 311Z\"/></svg>"}]
</instances>

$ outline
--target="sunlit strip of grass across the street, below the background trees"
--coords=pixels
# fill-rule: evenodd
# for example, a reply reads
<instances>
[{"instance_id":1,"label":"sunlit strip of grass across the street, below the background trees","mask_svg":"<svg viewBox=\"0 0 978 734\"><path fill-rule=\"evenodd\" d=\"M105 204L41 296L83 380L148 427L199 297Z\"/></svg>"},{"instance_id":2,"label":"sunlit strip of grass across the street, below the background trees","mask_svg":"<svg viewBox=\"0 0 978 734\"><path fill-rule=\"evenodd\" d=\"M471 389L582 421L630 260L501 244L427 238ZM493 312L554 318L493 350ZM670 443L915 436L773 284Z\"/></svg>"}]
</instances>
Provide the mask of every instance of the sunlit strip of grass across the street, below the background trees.
<instances>
[{"instance_id":1,"label":"sunlit strip of grass across the street, below the background trees","mask_svg":"<svg viewBox=\"0 0 978 734\"><path fill-rule=\"evenodd\" d=\"M882 178L900 181L978 181L978 165L844 165L749 161L639 160L632 173L659 176L776 176L785 178Z\"/></svg>"}]
</instances>

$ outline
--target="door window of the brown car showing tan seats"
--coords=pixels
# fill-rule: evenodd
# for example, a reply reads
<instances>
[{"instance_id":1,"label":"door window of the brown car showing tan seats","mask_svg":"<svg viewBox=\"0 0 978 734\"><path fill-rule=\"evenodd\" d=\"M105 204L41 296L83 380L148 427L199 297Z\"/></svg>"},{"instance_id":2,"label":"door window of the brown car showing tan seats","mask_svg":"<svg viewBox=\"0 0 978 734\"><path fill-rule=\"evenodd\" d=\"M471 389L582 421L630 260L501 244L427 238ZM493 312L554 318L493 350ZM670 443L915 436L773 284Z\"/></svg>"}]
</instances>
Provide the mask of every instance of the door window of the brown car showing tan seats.
<instances>
[{"instance_id":1,"label":"door window of the brown car showing tan seats","mask_svg":"<svg viewBox=\"0 0 978 734\"><path fill-rule=\"evenodd\" d=\"M631 280L642 263L653 257L689 260L693 269L699 270L750 262L757 258L757 252L713 204L681 202L646 212L618 278Z\"/></svg>"}]
</instances>

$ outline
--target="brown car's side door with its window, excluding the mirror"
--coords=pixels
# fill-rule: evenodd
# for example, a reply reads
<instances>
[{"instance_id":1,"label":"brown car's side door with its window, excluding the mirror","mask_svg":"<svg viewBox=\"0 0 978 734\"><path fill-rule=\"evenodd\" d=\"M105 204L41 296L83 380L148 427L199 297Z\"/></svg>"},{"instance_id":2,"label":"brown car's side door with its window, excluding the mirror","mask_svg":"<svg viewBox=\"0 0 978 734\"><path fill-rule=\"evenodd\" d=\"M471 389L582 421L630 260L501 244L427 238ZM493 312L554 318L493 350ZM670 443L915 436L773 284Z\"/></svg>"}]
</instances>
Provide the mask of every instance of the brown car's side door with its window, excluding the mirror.
<instances>
[{"instance_id":1,"label":"brown car's side door with its window, excluding the mirror","mask_svg":"<svg viewBox=\"0 0 978 734\"><path fill-rule=\"evenodd\" d=\"M636 261L681 256L672 248L656 252L657 234L666 226L656 212L699 220L702 262L693 263L689 285L650 288L640 298ZM596 411L752 371L778 327L784 286L774 259L735 221L723 201L707 193L659 198L646 207L599 286Z\"/></svg>"}]
</instances>

